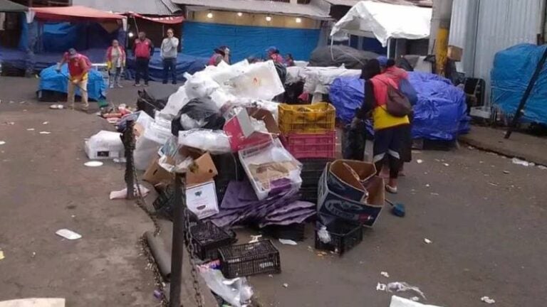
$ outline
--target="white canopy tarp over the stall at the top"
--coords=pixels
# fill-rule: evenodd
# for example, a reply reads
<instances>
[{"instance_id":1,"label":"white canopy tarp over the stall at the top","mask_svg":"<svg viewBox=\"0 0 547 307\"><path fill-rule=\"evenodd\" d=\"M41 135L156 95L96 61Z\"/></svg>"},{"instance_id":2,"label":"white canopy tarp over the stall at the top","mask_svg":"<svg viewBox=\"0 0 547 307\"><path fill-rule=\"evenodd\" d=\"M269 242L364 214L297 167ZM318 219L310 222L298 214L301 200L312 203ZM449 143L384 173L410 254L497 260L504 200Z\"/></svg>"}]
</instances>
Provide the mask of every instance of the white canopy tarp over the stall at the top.
<instances>
[{"instance_id":1,"label":"white canopy tarp over the stall at the top","mask_svg":"<svg viewBox=\"0 0 547 307\"><path fill-rule=\"evenodd\" d=\"M390 38L428 38L431 16L430 8L360 1L333 26L330 36L373 33L385 47Z\"/></svg>"}]
</instances>

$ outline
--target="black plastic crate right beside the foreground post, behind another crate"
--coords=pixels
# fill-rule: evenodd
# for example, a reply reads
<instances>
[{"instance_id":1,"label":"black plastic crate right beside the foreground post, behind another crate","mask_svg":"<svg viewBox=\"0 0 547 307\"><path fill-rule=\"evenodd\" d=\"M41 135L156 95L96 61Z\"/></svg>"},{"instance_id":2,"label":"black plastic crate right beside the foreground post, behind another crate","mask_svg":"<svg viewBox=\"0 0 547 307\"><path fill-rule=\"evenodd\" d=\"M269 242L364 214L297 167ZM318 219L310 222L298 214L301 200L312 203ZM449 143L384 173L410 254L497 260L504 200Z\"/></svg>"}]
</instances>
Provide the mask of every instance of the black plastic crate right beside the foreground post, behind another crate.
<instances>
[{"instance_id":1,"label":"black plastic crate right beside the foreground post, behind another crate","mask_svg":"<svg viewBox=\"0 0 547 307\"><path fill-rule=\"evenodd\" d=\"M194 253L202 260L219 259L219 247L234 243L234 235L229 234L212 222L199 222L190 227Z\"/></svg>"}]
</instances>

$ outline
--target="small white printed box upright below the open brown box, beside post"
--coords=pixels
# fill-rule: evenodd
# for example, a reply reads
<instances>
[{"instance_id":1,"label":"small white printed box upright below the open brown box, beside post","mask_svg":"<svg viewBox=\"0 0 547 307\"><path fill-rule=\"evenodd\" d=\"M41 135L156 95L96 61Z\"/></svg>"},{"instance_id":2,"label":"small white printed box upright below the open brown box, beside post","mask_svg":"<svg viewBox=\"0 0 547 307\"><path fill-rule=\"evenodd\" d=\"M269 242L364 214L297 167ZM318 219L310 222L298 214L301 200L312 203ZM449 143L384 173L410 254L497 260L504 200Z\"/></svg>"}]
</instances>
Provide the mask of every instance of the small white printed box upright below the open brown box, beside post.
<instances>
[{"instance_id":1,"label":"small white printed box upright below the open brown box, beside post","mask_svg":"<svg viewBox=\"0 0 547 307\"><path fill-rule=\"evenodd\" d=\"M219 204L214 181L186 188L186 205L199 220L216 215Z\"/></svg>"}]
</instances>

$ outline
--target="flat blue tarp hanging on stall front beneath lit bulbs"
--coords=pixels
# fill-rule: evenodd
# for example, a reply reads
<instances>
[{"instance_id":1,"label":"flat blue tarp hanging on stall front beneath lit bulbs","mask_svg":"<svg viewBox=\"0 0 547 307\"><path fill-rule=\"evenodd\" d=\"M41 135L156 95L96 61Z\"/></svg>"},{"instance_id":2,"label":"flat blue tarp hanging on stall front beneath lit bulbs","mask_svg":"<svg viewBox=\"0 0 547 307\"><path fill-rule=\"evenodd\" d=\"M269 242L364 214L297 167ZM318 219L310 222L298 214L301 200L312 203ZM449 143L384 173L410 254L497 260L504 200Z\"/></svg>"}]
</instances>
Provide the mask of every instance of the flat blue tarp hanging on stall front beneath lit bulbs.
<instances>
[{"instance_id":1,"label":"flat blue tarp hanging on stall front beneath lit bulbs","mask_svg":"<svg viewBox=\"0 0 547 307\"><path fill-rule=\"evenodd\" d=\"M231 26L218 23L186 21L182 26L183 50L188 55L209 58L214 48L227 45L233 62L251 55L265 56L266 48L276 46L283 55L308 60L319 41L318 29Z\"/></svg>"}]
</instances>

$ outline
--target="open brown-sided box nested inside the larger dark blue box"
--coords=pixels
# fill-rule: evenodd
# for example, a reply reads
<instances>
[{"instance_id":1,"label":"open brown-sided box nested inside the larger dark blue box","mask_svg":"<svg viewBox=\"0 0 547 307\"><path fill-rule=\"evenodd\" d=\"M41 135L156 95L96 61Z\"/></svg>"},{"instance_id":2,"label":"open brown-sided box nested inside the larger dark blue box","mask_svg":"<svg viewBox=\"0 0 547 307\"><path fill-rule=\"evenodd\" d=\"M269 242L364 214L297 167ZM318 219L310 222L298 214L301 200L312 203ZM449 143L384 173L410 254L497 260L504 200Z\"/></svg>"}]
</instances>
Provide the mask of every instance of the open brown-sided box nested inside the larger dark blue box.
<instances>
[{"instance_id":1,"label":"open brown-sided box nested inside the larger dark blue box","mask_svg":"<svg viewBox=\"0 0 547 307\"><path fill-rule=\"evenodd\" d=\"M373 163L336 160L330 163L327 184L333 193L344 195L350 200L365 202L368 191L363 183L375 174L376 168Z\"/></svg>"}]
</instances>

